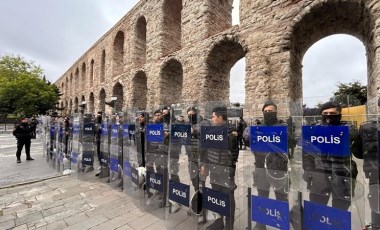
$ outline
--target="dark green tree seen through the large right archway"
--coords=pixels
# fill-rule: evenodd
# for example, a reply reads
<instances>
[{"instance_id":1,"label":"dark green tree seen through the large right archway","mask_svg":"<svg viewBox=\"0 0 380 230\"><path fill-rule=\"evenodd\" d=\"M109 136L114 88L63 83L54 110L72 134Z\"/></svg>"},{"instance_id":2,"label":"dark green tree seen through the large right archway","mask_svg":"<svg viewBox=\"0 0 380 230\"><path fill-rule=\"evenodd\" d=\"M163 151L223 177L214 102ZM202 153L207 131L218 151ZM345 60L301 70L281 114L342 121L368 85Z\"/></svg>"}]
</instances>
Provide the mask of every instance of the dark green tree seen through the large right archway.
<instances>
[{"instance_id":1,"label":"dark green tree seen through the large right archway","mask_svg":"<svg viewBox=\"0 0 380 230\"><path fill-rule=\"evenodd\" d=\"M343 107L364 105L367 102L367 86L358 80L350 83L338 83L338 89L331 100L339 102Z\"/></svg>"}]
</instances>

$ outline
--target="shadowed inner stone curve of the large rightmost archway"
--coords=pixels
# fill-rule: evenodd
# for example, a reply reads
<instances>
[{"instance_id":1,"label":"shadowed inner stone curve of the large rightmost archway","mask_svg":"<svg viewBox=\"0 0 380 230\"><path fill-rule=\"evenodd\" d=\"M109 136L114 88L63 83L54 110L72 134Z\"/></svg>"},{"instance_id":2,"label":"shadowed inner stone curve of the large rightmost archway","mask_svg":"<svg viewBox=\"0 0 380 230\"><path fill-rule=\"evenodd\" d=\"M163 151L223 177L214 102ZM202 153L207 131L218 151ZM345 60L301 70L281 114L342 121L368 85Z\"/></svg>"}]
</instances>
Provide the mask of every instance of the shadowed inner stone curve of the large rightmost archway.
<instances>
[{"instance_id":1,"label":"shadowed inner stone curve of the large rightmost archway","mask_svg":"<svg viewBox=\"0 0 380 230\"><path fill-rule=\"evenodd\" d=\"M376 97L377 84L374 72L374 21L364 3L354 1L329 1L319 4L300 17L290 37L290 81L287 97L303 97L302 60L306 51L317 41L330 35L346 34L359 39L367 53L367 96ZM329 84L335 84L330 81Z\"/></svg>"}]
</instances>

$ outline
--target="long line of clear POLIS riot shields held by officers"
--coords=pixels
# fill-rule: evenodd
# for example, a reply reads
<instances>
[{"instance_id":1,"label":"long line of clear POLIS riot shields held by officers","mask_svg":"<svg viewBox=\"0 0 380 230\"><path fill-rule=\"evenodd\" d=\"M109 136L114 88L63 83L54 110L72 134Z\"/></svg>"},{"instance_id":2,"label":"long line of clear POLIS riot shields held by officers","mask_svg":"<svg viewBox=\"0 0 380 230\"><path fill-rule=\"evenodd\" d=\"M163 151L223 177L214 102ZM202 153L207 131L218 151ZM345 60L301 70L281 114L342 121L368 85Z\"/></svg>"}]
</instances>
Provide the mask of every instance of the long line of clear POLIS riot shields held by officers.
<instances>
[{"instance_id":1,"label":"long line of clear POLIS riot shields held by officers","mask_svg":"<svg viewBox=\"0 0 380 230\"><path fill-rule=\"evenodd\" d=\"M51 167L124 191L167 229L380 229L379 105L260 101L239 130L224 102L183 103L41 116L38 130Z\"/></svg>"}]
</instances>

